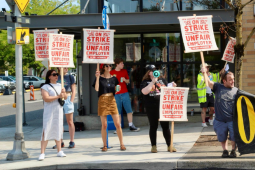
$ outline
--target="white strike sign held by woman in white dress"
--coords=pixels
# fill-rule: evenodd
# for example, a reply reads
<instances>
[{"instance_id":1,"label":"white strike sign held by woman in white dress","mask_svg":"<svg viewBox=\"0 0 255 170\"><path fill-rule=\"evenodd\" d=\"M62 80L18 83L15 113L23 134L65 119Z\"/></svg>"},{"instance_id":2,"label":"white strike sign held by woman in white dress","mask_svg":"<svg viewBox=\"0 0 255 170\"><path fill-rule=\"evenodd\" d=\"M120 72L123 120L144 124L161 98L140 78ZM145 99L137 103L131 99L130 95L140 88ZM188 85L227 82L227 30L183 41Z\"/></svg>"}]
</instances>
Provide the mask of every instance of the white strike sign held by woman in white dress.
<instances>
[{"instance_id":1,"label":"white strike sign held by woman in white dress","mask_svg":"<svg viewBox=\"0 0 255 170\"><path fill-rule=\"evenodd\" d=\"M71 67L73 64L74 35L49 34L50 67Z\"/></svg>"}]
</instances>

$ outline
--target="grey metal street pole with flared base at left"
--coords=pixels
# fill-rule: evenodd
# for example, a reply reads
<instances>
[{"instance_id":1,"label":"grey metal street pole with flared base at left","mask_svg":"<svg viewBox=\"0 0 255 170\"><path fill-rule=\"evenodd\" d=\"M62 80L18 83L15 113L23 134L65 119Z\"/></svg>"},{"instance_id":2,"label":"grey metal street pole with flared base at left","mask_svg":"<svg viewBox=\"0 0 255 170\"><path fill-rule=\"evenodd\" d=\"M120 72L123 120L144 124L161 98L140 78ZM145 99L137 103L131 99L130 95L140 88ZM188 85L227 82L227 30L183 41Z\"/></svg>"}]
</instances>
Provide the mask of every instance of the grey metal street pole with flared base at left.
<instances>
[{"instance_id":1,"label":"grey metal street pole with flared base at left","mask_svg":"<svg viewBox=\"0 0 255 170\"><path fill-rule=\"evenodd\" d=\"M16 16L21 17L21 13L18 9L17 4L15 4L15 13ZM21 27L21 24L15 23L15 28ZM15 45L15 72L16 72L16 133L14 137L13 150L10 151L7 155L7 160L20 160L29 158L29 153L25 148L24 134L22 132L22 46Z\"/></svg>"}]
</instances>

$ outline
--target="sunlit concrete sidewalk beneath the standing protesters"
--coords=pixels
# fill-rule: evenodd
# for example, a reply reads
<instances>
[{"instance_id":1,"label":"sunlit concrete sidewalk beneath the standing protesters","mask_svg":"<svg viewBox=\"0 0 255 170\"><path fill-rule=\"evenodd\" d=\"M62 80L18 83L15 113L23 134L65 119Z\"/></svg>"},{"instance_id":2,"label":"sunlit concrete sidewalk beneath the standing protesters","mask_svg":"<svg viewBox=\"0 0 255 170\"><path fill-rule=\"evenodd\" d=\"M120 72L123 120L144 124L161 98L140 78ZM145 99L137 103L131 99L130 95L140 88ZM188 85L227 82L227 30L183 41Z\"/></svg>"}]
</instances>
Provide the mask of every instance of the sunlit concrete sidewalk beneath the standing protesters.
<instances>
[{"instance_id":1,"label":"sunlit concrete sidewalk beneath the standing protesters","mask_svg":"<svg viewBox=\"0 0 255 170\"><path fill-rule=\"evenodd\" d=\"M200 123L175 123L174 146L176 153L167 152L167 146L161 129L158 129L158 153L151 153L149 127L141 127L140 132L123 130L126 151L120 151L117 135L109 132L109 144L112 149L102 153L100 130L77 132L74 149L68 149L69 133L64 133L66 158L57 157L57 151L51 149L54 141L49 141L44 161L37 161L40 154L40 136L42 126L38 122L24 127L25 145L31 158L20 161L6 161L13 148L15 127L0 128L0 169L173 169L177 161L187 153L201 134ZM159 125L160 127L160 125ZM67 129L67 127L65 127Z\"/></svg>"}]
</instances>

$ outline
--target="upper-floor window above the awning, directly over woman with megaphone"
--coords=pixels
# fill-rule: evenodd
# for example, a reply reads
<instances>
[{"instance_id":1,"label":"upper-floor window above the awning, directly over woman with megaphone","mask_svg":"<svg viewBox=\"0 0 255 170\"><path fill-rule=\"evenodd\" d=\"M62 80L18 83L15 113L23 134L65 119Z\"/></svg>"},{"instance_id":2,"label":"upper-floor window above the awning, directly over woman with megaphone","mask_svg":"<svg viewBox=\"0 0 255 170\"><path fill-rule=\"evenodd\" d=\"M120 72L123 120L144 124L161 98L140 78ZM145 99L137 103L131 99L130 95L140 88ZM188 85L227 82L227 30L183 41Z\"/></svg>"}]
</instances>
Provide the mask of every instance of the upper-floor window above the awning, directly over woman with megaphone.
<instances>
[{"instance_id":1,"label":"upper-floor window above the awning, directly over woman with megaphone","mask_svg":"<svg viewBox=\"0 0 255 170\"><path fill-rule=\"evenodd\" d=\"M175 0L143 0L143 12L179 10L179 3Z\"/></svg>"}]
</instances>

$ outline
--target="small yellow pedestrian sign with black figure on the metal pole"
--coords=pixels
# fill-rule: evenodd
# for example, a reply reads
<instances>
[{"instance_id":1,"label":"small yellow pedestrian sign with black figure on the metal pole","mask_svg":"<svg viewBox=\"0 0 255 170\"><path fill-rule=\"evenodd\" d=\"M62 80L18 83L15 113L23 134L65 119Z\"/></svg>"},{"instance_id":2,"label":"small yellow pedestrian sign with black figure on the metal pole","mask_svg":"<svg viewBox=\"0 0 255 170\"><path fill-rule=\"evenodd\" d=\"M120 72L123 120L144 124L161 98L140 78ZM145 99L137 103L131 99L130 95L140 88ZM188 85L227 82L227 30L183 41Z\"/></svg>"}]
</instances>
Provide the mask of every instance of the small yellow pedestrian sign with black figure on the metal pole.
<instances>
[{"instance_id":1,"label":"small yellow pedestrian sign with black figure on the metal pole","mask_svg":"<svg viewBox=\"0 0 255 170\"><path fill-rule=\"evenodd\" d=\"M29 44L29 28L16 28L16 44Z\"/></svg>"}]
</instances>

